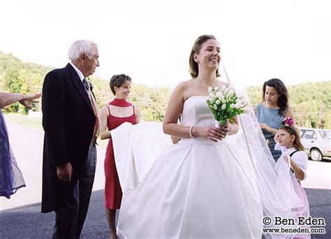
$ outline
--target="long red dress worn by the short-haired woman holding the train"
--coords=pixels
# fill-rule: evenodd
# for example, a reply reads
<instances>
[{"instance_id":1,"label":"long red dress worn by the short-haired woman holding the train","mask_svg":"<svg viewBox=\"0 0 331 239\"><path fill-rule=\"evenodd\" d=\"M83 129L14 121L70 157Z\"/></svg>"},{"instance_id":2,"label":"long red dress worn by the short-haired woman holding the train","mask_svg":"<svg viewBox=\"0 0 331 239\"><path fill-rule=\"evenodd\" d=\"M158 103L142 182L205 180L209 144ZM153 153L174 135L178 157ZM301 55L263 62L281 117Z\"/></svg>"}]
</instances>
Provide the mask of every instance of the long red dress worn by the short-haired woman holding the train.
<instances>
[{"instance_id":1,"label":"long red dress worn by the short-haired woman holding the train","mask_svg":"<svg viewBox=\"0 0 331 239\"><path fill-rule=\"evenodd\" d=\"M131 106L130 106L131 107ZM133 106L132 106L133 107ZM110 114L109 106L107 106L108 130L116 129L124 122L135 124L135 108L133 107L133 115L129 117L116 117ZM107 150L105 152L105 208L119 209L122 201L122 189L119 184L119 176L117 174L114 150L112 148L112 138L109 139Z\"/></svg>"}]
</instances>

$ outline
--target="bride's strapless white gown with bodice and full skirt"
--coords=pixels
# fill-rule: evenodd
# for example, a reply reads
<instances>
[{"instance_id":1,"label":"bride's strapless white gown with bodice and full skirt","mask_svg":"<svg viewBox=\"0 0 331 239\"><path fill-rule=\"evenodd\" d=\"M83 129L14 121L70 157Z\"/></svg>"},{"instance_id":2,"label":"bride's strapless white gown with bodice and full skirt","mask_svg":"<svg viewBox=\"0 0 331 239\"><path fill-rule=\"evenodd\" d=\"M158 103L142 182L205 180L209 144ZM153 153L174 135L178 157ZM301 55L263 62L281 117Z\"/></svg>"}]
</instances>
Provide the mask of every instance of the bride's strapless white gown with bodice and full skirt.
<instances>
[{"instance_id":1,"label":"bride's strapless white gown with bodice and full skirt","mask_svg":"<svg viewBox=\"0 0 331 239\"><path fill-rule=\"evenodd\" d=\"M206 99L184 102L182 125L214 124ZM166 147L141 182L123 189L119 238L261 238L263 208L240 133L217 143L182 138Z\"/></svg>"}]
</instances>

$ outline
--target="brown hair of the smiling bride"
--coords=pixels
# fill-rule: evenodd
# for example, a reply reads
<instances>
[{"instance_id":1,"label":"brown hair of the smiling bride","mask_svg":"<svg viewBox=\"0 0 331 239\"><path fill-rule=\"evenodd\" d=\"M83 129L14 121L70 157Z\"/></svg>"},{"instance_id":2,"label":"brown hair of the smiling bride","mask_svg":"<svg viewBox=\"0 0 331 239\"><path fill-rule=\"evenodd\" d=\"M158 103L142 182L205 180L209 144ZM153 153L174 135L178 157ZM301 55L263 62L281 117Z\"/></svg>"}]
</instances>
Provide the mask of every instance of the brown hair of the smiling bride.
<instances>
[{"instance_id":1,"label":"brown hair of the smiling bride","mask_svg":"<svg viewBox=\"0 0 331 239\"><path fill-rule=\"evenodd\" d=\"M189 58L189 66L190 66L190 75L192 76L192 78L196 78L199 74L199 67L198 67L198 63L196 63L196 61L193 59L194 57L194 53L199 54L201 48L203 47L203 43L205 43L206 41L208 41L209 39L214 39L215 41L216 38L213 35L201 35L199 36L196 41L193 44L192 50L191 50L191 54L190 54L190 58ZM216 70L216 77L219 77L219 69Z\"/></svg>"}]
</instances>

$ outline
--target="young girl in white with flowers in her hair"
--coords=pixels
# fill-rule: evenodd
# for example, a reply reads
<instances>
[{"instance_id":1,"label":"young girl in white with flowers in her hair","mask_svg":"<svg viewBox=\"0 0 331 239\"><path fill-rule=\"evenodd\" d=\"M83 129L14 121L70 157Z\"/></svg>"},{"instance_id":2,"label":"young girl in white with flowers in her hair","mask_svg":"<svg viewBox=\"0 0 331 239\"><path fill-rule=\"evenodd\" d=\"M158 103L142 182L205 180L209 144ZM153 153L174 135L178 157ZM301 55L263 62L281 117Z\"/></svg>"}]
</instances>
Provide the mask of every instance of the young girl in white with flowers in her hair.
<instances>
[{"instance_id":1,"label":"young girl in white with flowers in her hair","mask_svg":"<svg viewBox=\"0 0 331 239\"><path fill-rule=\"evenodd\" d=\"M304 146L301 143L299 131L293 127L293 119L285 117L281 123L279 131L274 136L277 143L275 150L281 150L281 157L277 164L281 163L281 159L286 162L290 161L290 178L295 189L295 192L304 204L304 208L294 208L297 211L297 217L309 217L309 203L306 192L302 188L300 181L307 178L308 157L304 152ZM304 226L302 226L304 227ZM298 236L298 237L297 237ZM310 234L300 234L295 238L310 238Z\"/></svg>"}]
</instances>

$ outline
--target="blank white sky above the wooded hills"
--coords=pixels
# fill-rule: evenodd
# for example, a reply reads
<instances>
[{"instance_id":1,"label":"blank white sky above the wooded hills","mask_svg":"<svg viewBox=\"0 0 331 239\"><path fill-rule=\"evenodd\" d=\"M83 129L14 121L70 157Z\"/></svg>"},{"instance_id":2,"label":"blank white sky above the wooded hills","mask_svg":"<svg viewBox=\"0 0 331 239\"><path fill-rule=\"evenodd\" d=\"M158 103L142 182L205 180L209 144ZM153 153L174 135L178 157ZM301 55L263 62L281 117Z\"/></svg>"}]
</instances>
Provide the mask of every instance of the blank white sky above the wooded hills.
<instances>
[{"instance_id":1,"label":"blank white sky above the wooded hills","mask_svg":"<svg viewBox=\"0 0 331 239\"><path fill-rule=\"evenodd\" d=\"M328 0L1 1L0 50L64 67L78 39L99 45L96 75L175 87L188 80L189 52L213 34L236 87L280 78L286 85L331 80Z\"/></svg>"}]
</instances>

